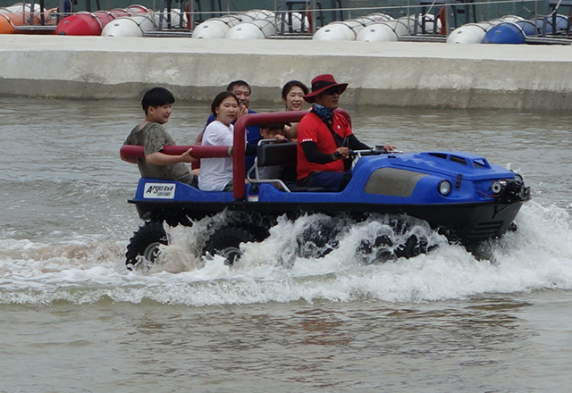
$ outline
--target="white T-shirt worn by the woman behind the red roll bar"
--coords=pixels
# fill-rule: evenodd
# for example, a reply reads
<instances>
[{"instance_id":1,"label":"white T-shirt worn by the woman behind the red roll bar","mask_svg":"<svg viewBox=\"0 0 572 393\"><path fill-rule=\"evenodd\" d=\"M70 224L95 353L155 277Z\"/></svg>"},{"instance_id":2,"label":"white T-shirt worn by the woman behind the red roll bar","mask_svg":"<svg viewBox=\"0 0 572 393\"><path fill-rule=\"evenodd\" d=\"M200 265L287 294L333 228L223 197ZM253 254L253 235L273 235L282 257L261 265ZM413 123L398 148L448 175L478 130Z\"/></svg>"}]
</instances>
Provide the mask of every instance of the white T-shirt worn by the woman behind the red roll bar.
<instances>
[{"instance_id":1,"label":"white T-shirt worn by the woman behind the red roll bar","mask_svg":"<svg viewBox=\"0 0 572 393\"><path fill-rule=\"evenodd\" d=\"M203 146L232 146L234 126L213 121L203 133ZM202 191L223 191L232 180L232 157L201 158L198 188Z\"/></svg>"}]
</instances>

